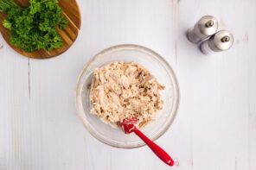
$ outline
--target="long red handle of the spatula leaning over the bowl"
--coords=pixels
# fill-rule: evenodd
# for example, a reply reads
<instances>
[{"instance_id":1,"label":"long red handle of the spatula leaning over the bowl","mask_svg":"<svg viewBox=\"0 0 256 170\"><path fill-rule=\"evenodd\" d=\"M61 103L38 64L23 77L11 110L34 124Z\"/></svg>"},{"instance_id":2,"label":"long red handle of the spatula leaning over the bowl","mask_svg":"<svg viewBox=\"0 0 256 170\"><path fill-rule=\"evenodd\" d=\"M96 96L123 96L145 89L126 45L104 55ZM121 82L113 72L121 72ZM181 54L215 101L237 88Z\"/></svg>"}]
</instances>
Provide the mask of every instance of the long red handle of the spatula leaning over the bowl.
<instances>
[{"instance_id":1,"label":"long red handle of the spatula leaning over the bowl","mask_svg":"<svg viewBox=\"0 0 256 170\"><path fill-rule=\"evenodd\" d=\"M163 148L160 148L155 142L152 142L139 129L134 129L134 133L138 135L164 163L169 166L174 165L174 161L171 159L170 155L163 150Z\"/></svg>"}]
</instances>

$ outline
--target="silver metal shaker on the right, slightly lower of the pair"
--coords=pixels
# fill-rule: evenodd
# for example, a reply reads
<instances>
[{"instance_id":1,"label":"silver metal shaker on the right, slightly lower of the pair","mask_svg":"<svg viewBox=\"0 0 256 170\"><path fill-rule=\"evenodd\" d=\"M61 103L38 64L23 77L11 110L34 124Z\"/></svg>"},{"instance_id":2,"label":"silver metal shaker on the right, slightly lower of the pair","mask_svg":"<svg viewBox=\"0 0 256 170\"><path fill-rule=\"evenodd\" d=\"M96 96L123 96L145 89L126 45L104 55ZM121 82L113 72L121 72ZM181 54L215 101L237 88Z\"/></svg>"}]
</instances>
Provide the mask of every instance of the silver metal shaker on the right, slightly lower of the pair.
<instances>
[{"instance_id":1,"label":"silver metal shaker on the right, slightly lower of the pair","mask_svg":"<svg viewBox=\"0 0 256 170\"><path fill-rule=\"evenodd\" d=\"M218 31L208 40L203 41L200 49L203 54L212 54L229 49L234 44L234 36L227 30Z\"/></svg>"}]
</instances>

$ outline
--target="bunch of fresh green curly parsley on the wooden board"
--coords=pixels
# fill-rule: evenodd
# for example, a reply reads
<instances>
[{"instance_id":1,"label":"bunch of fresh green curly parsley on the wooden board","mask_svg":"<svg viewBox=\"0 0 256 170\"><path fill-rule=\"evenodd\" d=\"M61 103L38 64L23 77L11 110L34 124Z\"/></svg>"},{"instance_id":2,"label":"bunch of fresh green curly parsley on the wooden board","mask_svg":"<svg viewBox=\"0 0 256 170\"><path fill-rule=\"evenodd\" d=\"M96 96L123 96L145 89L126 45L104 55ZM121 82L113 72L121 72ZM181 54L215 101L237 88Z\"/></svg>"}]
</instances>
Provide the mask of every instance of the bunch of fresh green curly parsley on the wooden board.
<instances>
[{"instance_id":1,"label":"bunch of fresh green curly parsley on the wooden board","mask_svg":"<svg viewBox=\"0 0 256 170\"><path fill-rule=\"evenodd\" d=\"M10 43L25 52L51 51L62 47L57 28L67 28L58 0L29 0L22 8L13 0L0 0L0 12L7 14L3 27L10 30Z\"/></svg>"}]
</instances>

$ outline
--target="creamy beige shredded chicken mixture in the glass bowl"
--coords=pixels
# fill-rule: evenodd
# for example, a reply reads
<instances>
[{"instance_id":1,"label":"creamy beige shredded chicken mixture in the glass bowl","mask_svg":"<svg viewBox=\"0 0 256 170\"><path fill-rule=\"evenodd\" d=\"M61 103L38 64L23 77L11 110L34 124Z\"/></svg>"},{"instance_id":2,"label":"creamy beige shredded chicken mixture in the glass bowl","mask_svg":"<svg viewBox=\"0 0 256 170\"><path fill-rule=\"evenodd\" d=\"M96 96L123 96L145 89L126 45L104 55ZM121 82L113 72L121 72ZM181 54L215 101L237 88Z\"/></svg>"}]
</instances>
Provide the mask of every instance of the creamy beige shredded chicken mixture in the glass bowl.
<instances>
[{"instance_id":1,"label":"creamy beige shredded chicken mixture in the glass bowl","mask_svg":"<svg viewBox=\"0 0 256 170\"><path fill-rule=\"evenodd\" d=\"M93 73L90 100L92 114L113 127L125 118L138 119L142 128L163 109L157 82L148 70L134 62L112 62Z\"/></svg>"}]
</instances>

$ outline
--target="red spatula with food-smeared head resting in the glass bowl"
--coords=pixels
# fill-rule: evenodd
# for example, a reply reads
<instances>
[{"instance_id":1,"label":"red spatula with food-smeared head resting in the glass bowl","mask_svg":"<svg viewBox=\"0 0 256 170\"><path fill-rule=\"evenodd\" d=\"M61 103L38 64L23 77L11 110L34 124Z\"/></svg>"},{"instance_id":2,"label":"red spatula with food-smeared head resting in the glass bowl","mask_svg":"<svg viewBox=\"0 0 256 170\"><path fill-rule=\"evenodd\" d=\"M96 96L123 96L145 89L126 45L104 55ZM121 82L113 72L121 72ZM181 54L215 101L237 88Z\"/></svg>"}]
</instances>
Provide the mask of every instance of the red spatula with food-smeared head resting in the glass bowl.
<instances>
[{"instance_id":1,"label":"red spatula with food-smeared head resting in the glass bowl","mask_svg":"<svg viewBox=\"0 0 256 170\"><path fill-rule=\"evenodd\" d=\"M125 118L122 123L120 123L121 128L124 130L125 134L130 134L134 132L138 137L140 137L149 147L150 149L157 154L158 158L160 158L164 163L169 166L174 165L174 161L167 154L163 148L160 148L155 142L152 142L146 135L144 135L139 129L136 128L134 124L137 123L136 118Z\"/></svg>"}]
</instances>

